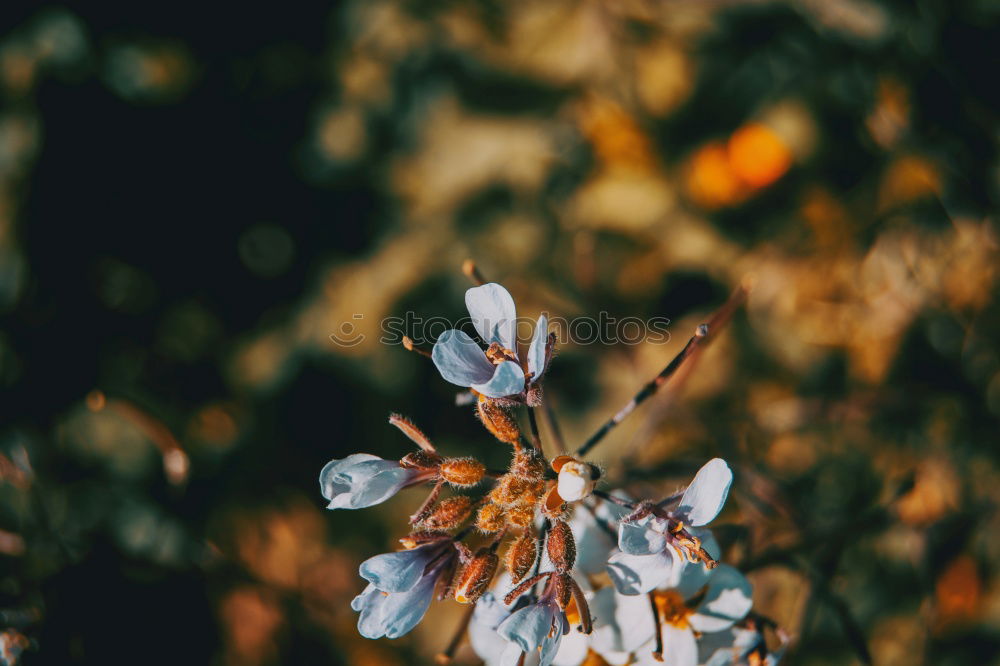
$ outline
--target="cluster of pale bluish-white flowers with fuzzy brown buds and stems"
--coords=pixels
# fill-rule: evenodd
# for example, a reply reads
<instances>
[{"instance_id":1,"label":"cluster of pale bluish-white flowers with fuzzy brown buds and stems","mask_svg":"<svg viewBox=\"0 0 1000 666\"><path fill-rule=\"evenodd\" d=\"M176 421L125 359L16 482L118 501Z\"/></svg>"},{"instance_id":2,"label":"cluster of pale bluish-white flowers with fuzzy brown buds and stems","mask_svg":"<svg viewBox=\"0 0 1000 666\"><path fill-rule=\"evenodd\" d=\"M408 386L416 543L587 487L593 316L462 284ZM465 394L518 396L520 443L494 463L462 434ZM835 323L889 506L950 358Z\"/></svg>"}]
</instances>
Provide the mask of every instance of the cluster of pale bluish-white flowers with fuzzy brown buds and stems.
<instances>
[{"instance_id":1,"label":"cluster of pale bluish-white flowers with fuzzy brown buds and stems","mask_svg":"<svg viewBox=\"0 0 1000 666\"><path fill-rule=\"evenodd\" d=\"M323 468L320 487L331 509L368 507L404 488L430 486L409 517L402 549L361 564L368 586L352 603L361 634L402 636L435 597L450 597L470 608L442 661L467 630L490 665L775 664L781 648L765 640L775 627L751 612L749 582L719 562L707 527L729 494L726 462L710 460L665 499L633 501L597 488L601 469L582 459L708 328L699 327L678 358L575 455L547 459L534 411L544 406L541 382L553 356L546 316L522 359L507 290L480 284L465 301L482 345L450 330L428 355L445 380L468 389L485 428L511 447L510 465L489 470L475 458L446 457L411 421L392 415L416 451L399 460L357 453ZM522 409L530 437L519 426Z\"/></svg>"}]
</instances>

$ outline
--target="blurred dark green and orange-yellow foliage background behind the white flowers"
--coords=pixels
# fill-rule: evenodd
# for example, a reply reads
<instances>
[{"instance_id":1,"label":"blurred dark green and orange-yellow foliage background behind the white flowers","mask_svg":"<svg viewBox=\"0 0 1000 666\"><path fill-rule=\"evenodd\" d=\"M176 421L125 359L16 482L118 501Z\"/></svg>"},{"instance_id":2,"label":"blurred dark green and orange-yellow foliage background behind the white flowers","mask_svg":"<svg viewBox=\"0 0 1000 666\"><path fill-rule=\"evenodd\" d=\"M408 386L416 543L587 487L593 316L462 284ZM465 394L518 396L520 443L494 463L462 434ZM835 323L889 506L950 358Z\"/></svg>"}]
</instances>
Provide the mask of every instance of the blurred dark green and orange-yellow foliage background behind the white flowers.
<instances>
[{"instance_id":1,"label":"blurred dark green and orange-yellow foliage background behind the white flowers","mask_svg":"<svg viewBox=\"0 0 1000 666\"><path fill-rule=\"evenodd\" d=\"M453 602L396 641L349 608L420 492L327 512L316 479L410 451L392 411L505 462L378 341L464 314L467 257L526 316L671 320L561 349L571 445L752 280L594 450L609 487L727 458L726 559L788 663L997 663L997 3L0 20L0 663L427 663Z\"/></svg>"}]
</instances>

